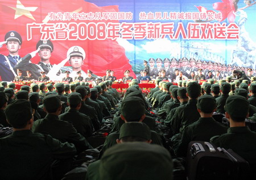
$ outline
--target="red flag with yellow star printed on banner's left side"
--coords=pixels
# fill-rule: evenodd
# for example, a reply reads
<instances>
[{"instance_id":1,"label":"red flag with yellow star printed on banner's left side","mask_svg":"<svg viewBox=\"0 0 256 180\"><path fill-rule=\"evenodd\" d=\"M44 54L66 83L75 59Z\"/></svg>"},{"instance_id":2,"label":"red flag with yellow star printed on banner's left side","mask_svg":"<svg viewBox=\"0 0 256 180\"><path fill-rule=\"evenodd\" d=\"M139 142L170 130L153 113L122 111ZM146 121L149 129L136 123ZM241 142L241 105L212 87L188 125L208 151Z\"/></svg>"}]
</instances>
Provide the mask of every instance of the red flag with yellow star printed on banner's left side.
<instances>
[{"instance_id":1,"label":"red flag with yellow star printed on banner's left side","mask_svg":"<svg viewBox=\"0 0 256 180\"><path fill-rule=\"evenodd\" d=\"M27 53L36 50L36 43L39 41L41 34L32 33L32 39L27 40L27 23L43 23L46 21L46 16L50 12L118 12L118 6L98 7L93 3L83 0L0 0L0 41L4 41L6 32L17 31L22 36L22 46L19 50L20 56L25 56ZM118 23L118 20L70 20L70 21L52 21L47 23ZM85 72L90 69L98 76L104 76L106 69L114 70L117 78L122 78L126 69L131 71L131 76L135 77L131 70L129 60L125 55L125 49L121 47L115 40L52 40L54 50L50 58L51 64L59 64L67 58L67 51L70 47L78 45L84 48L86 58L82 65L82 70ZM0 53L8 55L6 46L0 48ZM32 59L33 63L39 62L39 56ZM70 66L69 63L65 66Z\"/></svg>"}]
</instances>

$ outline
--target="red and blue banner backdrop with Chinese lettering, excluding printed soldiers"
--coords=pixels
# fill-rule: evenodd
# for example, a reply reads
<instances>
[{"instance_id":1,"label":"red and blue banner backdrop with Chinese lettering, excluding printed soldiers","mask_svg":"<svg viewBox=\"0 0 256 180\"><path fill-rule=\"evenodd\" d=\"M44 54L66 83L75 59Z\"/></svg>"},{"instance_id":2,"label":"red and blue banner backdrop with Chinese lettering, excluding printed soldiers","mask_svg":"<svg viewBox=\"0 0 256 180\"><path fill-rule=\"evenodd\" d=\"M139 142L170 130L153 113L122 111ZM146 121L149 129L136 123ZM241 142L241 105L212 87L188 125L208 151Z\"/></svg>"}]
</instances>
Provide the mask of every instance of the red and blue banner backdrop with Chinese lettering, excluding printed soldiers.
<instances>
[{"instance_id":1,"label":"red and blue banner backdrop with Chinese lettering, excluding printed soldiers","mask_svg":"<svg viewBox=\"0 0 256 180\"><path fill-rule=\"evenodd\" d=\"M18 31L24 56L35 51L39 39L51 39L52 64L64 60L68 48L79 45L86 52L82 70L98 76L104 76L106 69L114 70L117 78L126 69L137 74L143 60L151 57L194 57L255 69L256 5L246 7L240 0L236 7L229 2L233 1L0 1L0 41L6 32ZM5 45L0 53L7 55ZM38 61L38 56L32 59Z\"/></svg>"}]
</instances>

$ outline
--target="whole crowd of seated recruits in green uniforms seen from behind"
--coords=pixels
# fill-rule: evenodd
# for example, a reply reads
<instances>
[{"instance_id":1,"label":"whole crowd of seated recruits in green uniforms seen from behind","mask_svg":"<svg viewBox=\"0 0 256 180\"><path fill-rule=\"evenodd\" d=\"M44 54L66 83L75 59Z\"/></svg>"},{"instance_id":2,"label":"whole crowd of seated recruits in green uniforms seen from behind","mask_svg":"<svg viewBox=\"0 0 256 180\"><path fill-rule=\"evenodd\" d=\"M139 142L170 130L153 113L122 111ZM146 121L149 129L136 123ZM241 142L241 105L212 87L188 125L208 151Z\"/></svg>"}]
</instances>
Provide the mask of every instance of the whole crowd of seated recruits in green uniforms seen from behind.
<instances>
[{"instance_id":1,"label":"whole crowd of seated recruits in green uniforms seen from behind","mask_svg":"<svg viewBox=\"0 0 256 180\"><path fill-rule=\"evenodd\" d=\"M205 83L202 91L194 81L186 83L185 87L156 81L155 89L145 97L138 82L132 81L125 96L118 100L119 106L110 111L114 123L97 161L90 161L88 169L80 166L79 170L87 170L83 174L86 179L185 179L185 172L179 171L183 168L177 157L186 156L188 143L193 140L212 141L217 146L231 148L253 164L256 162L256 133L245 127L245 119L256 118L255 107L247 100L249 92L250 98L255 98L256 83L251 83L249 89L245 84L240 83L234 95L229 95L232 85L228 82ZM33 102L39 105L40 97L36 85L31 86L32 93L25 93L22 88L15 94L16 100L11 101L8 98L14 97L14 94L9 95L11 88L0 92L1 117L5 116L13 128L11 135L0 139L0 169L4 169L0 178L61 179L64 176L68 179L65 173L74 168L71 162L92 148L88 139L101 129L97 124L104 124L106 119L105 115L100 119L96 108L86 101L94 101L92 94L96 91L96 100L104 91L114 98L108 93L105 82L99 86L90 89L78 85L65 102L61 99L64 85L57 83L57 94L49 91L43 98L46 116L37 120L34 117L39 107ZM162 106L152 108L152 99L156 97L159 102L163 99ZM65 103L68 107L63 111ZM93 108L86 109L86 105ZM166 118L160 117L163 107L170 108ZM93 109L97 123L86 114ZM216 110L225 113L230 128L212 118ZM16 173L11 173L14 170Z\"/></svg>"}]
</instances>

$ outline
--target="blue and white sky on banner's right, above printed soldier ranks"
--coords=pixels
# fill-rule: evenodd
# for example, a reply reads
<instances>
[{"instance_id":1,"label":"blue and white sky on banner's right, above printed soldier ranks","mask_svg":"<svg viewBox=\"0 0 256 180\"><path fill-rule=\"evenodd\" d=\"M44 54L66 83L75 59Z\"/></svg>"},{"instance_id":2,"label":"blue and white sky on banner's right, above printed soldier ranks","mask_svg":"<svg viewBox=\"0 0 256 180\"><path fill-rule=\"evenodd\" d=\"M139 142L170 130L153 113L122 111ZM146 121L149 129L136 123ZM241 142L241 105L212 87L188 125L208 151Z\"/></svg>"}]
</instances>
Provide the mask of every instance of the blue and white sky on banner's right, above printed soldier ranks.
<instances>
[{"instance_id":1,"label":"blue and white sky on banner's right, above printed soldier ranks","mask_svg":"<svg viewBox=\"0 0 256 180\"><path fill-rule=\"evenodd\" d=\"M214 24L214 23L226 23L226 27L229 26L232 21L237 27L233 27L233 37L217 37L214 40L209 40L204 35L197 39L188 39L183 36L179 36L178 39L170 39L166 36L164 38L158 39L121 39L118 38L117 41L120 45L125 48L126 56L130 60L130 64L133 69L138 72L142 69L143 60L148 60L149 58L162 58L166 57L177 59L181 57L195 57L197 59L221 62L222 64L233 64L238 66L243 66L247 68L255 69L255 55L256 55L256 36L255 36L255 10L256 5L254 2L250 1L234 1L237 5L233 4L233 1L221 1L221 0L210 0L210 1L144 1L144 0L134 0L134 1L100 1L92 0L88 1L95 3L97 6L110 6L118 5L119 12L131 12L133 18L131 20L122 20L120 23L174 23L174 31L177 30L177 24L182 23L185 31L188 28L189 23L203 22L200 24ZM246 4L247 3L247 4ZM216 10L214 7L225 8L227 14L222 14L223 21L221 17L218 16L225 11ZM197 6L197 7L196 7ZM201 6L201 7L200 7ZM236 9L236 13L233 13L233 9ZM206 10L207 9L207 10ZM203 20L195 20L196 15L201 10L201 18ZM214 16L212 20L205 19L205 14L203 12L211 12ZM178 18L175 19L175 13L182 12L183 14L177 15ZM194 14L193 14L194 13ZM144 19L142 18L144 15ZM172 19L170 18L172 15ZM194 16L189 19L189 15ZM145 18L146 17L146 18ZM234 18L234 19L232 19ZM186 20L187 19L187 20ZM148 25L148 24L147 24ZM149 27L149 26L148 26ZM214 25L213 25L214 27ZM193 28L193 27L192 27ZM152 27L154 29L154 27ZM211 28L212 29L212 28ZM148 29L147 29L148 30ZM239 31L240 30L240 31ZM156 33L156 30L152 30ZM196 31L196 30L195 30ZM191 34L196 33L190 31ZM226 31L227 32L227 31ZM239 38L234 38L239 35ZM187 33L188 35L188 33ZM223 38L223 39L222 39Z\"/></svg>"}]
</instances>

